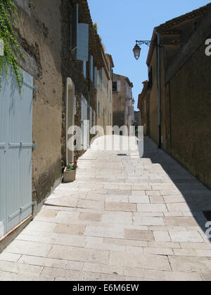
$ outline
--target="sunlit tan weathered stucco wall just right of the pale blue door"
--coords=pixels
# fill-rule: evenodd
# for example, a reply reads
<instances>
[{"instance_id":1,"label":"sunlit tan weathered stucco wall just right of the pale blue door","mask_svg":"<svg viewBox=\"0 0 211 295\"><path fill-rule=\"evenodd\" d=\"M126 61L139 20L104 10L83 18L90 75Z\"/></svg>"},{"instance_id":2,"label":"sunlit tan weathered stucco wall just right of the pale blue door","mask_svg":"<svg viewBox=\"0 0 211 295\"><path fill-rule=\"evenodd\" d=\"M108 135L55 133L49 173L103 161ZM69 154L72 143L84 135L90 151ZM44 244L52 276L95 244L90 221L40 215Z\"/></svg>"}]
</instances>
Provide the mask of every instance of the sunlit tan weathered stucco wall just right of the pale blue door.
<instances>
[{"instance_id":1,"label":"sunlit tan weathered stucco wall just right of the pale blue door","mask_svg":"<svg viewBox=\"0 0 211 295\"><path fill-rule=\"evenodd\" d=\"M18 4L21 1L18 1ZM63 83L61 68L60 1L34 1L18 6L15 24L26 61L20 65L34 77L32 138L33 199L40 202L61 177L61 126ZM52 19L54 20L52 22Z\"/></svg>"}]
</instances>

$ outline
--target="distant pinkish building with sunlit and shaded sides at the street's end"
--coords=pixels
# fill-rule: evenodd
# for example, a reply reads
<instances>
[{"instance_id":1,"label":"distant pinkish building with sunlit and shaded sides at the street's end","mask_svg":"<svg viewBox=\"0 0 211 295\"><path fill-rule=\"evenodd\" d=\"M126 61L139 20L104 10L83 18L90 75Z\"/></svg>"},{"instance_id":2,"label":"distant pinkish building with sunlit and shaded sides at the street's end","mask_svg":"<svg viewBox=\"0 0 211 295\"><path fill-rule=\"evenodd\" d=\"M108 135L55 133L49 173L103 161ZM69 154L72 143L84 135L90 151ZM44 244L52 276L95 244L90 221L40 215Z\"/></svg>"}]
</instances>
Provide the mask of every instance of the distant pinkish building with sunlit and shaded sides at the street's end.
<instances>
[{"instance_id":1,"label":"distant pinkish building with sunlit and shaded sides at the street's end","mask_svg":"<svg viewBox=\"0 0 211 295\"><path fill-rule=\"evenodd\" d=\"M125 76L113 74L113 126L134 124L133 84Z\"/></svg>"}]
</instances>

